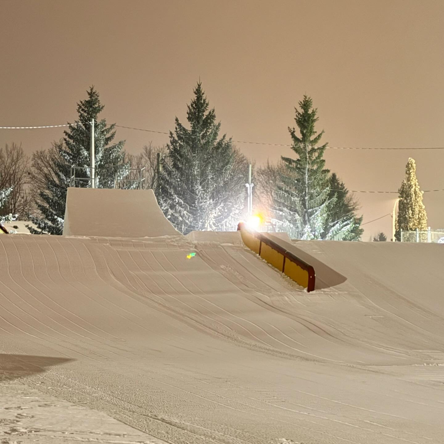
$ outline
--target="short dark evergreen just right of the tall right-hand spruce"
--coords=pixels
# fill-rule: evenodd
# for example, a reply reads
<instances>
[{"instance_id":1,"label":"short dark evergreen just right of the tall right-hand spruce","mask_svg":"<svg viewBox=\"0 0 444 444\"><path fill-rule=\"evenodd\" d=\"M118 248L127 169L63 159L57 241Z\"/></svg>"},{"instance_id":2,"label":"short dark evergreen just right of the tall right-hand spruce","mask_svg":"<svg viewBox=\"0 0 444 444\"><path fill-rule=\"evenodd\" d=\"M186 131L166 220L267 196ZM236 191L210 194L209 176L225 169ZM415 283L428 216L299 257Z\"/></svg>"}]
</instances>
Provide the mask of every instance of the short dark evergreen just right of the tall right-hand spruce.
<instances>
[{"instance_id":1,"label":"short dark evergreen just right of the tall right-hand spruce","mask_svg":"<svg viewBox=\"0 0 444 444\"><path fill-rule=\"evenodd\" d=\"M364 233L361 228L363 216L357 217L358 202L336 175L329 178L329 205L325 220L324 239L337 241L359 241Z\"/></svg>"}]
</instances>

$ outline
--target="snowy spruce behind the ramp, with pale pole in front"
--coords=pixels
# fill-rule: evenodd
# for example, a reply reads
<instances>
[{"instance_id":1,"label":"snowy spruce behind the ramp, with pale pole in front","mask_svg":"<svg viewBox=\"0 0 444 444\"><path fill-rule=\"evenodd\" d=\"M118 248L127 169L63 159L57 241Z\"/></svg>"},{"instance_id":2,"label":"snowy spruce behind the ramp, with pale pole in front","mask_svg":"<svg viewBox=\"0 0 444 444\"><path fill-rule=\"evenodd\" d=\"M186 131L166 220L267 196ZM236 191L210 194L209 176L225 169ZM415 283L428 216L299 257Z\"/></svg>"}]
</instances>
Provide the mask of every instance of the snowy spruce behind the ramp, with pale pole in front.
<instances>
[{"instance_id":1,"label":"snowy spruce behind the ramp, with pale pole in front","mask_svg":"<svg viewBox=\"0 0 444 444\"><path fill-rule=\"evenodd\" d=\"M87 91L87 99L77 104L79 119L63 131L63 144L56 145L58 155L52 155L53 174L48 176L46 189L40 190L40 199L36 206L41 217L31 217L37 229L28 227L33 234L62 234L65 217L67 188L70 186L71 166L85 167L76 170L76 177L90 177L90 122L94 119L95 177L97 188L114 188L115 176L122 179L127 174L123 164L123 145L125 141L112 143L115 137L115 123L107 126L106 120L98 120L104 105L100 102L99 93L92 86ZM69 124L69 123L68 123ZM71 124L70 124L71 125ZM75 182L76 187L90 186L88 180Z\"/></svg>"}]
</instances>

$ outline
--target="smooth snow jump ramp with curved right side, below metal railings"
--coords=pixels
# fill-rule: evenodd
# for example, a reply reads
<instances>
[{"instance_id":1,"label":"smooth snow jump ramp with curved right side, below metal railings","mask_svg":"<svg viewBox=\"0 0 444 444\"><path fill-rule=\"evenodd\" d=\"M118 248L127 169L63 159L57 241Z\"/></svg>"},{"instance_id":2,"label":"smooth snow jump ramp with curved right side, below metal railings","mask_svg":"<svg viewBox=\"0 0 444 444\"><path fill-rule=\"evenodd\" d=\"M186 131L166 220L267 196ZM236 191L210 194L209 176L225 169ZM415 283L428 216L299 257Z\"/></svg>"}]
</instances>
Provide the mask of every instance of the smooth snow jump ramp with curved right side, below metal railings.
<instances>
[{"instance_id":1,"label":"smooth snow jump ramp with curved right side, below metal railings","mask_svg":"<svg viewBox=\"0 0 444 444\"><path fill-rule=\"evenodd\" d=\"M155 238L179 234L163 215L153 190L68 188L65 236Z\"/></svg>"}]
</instances>

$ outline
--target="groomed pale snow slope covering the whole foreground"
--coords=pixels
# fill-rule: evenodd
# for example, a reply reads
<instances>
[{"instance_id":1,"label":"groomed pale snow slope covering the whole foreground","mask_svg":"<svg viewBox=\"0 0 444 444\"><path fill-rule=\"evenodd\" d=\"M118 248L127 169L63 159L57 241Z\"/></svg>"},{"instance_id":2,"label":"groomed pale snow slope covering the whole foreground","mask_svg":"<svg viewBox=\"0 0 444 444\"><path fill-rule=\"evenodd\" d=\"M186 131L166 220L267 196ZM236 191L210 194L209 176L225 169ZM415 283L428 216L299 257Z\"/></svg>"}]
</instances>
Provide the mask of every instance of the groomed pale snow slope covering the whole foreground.
<instances>
[{"instance_id":1,"label":"groomed pale snow slope covering the whole foreground","mask_svg":"<svg viewBox=\"0 0 444 444\"><path fill-rule=\"evenodd\" d=\"M286 247L314 292L238 233L0 236L1 442L443 443L443 246Z\"/></svg>"}]
</instances>

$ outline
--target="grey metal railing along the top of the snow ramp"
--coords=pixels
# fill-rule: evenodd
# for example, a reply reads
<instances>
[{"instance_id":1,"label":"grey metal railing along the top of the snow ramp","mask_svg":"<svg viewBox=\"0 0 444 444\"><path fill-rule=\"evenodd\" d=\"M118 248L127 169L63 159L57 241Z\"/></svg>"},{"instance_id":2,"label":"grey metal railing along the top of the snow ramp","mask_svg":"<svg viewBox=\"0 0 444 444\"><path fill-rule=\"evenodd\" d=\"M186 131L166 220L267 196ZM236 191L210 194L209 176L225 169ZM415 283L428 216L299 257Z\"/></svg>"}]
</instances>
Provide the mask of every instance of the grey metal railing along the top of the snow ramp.
<instances>
[{"instance_id":1,"label":"grey metal railing along the top of the snow ramp","mask_svg":"<svg viewBox=\"0 0 444 444\"><path fill-rule=\"evenodd\" d=\"M87 174L86 177L84 176L85 170ZM91 173L93 171L95 173L96 170L97 170L96 168L93 168L91 166L71 165L69 186L75 187L77 181L83 181L83 182L88 182L89 187L97 188L98 185L97 174L94 174L94 177L91 177L92 176ZM126 188L125 184L130 185L128 186L128 188L131 188L131 184L135 182L139 183L137 189L145 190L147 188L147 170L145 166L143 168L123 168L112 165L109 167L109 170L115 170L114 186L112 188Z\"/></svg>"}]
</instances>

